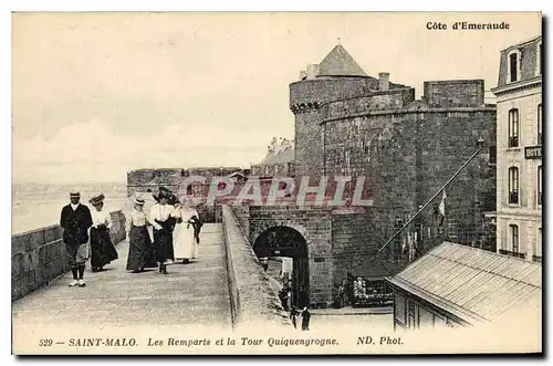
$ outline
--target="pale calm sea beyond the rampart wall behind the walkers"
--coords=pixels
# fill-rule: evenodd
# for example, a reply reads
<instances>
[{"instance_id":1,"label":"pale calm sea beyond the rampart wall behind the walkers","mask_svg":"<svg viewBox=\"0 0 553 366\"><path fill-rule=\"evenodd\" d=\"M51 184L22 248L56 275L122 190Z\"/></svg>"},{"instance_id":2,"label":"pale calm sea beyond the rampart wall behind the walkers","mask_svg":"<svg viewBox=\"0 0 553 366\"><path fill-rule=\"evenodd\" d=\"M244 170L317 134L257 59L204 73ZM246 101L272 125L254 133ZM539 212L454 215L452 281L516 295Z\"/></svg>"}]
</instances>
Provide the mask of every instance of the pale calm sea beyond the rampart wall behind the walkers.
<instances>
[{"instance_id":1,"label":"pale calm sea beyond the rampart wall behind the walkers","mask_svg":"<svg viewBox=\"0 0 553 366\"><path fill-rule=\"evenodd\" d=\"M131 200L125 194L107 192L104 195L106 196L105 209L108 211L123 210L127 212L132 208ZM88 195L83 195L81 203L91 207L87 201ZM11 211L12 234L59 223L62 207L67 203L69 197L66 194L14 194Z\"/></svg>"}]
</instances>

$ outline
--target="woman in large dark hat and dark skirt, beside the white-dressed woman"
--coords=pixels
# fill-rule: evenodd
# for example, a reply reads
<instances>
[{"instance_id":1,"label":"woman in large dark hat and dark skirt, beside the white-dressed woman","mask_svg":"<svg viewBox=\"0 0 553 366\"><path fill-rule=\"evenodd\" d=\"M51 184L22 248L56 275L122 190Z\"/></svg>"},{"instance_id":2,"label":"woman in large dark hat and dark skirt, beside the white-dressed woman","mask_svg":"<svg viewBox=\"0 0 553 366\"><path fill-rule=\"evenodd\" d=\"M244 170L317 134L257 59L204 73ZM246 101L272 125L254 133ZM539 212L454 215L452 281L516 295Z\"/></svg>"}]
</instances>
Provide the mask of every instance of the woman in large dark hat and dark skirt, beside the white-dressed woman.
<instances>
[{"instance_id":1,"label":"woman in large dark hat and dark skirt, beside the white-dressed woman","mask_svg":"<svg viewBox=\"0 0 553 366\"><path fill-rule=\"evenodd\" d=\"M165 187L159 188L158 202L149 211L149 222L154 226L154 252L159 263L159 273L167 274L167 264L175 261L173 248L173 230L176 218L173 192Z\"/></svg>"}]
</instances>

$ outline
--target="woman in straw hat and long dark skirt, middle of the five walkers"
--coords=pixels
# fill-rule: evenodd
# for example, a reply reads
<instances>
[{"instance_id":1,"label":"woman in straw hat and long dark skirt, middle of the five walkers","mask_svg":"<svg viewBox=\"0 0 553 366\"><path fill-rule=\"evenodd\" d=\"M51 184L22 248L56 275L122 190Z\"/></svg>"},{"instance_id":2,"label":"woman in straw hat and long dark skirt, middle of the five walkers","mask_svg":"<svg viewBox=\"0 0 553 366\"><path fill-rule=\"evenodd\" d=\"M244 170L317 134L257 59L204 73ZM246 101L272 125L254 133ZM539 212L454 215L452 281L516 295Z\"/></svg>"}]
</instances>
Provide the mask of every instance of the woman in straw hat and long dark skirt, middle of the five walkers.
<instances>
[{"instance_id":1,"label":"woman in straw hat and long dark skirt, middle of the five walkers","mask_svg":"<svg viewBox=\"0 0 553 366\"><path fill-rule=\"evenodd\" d=\"M155 268L156 259L148 233L148 218L144 212L144 199L135 198L134 210L131 211L126 221L128 232L127 271L139 273L144 272L146 268Z\"/></svg>"}]
</instances>

